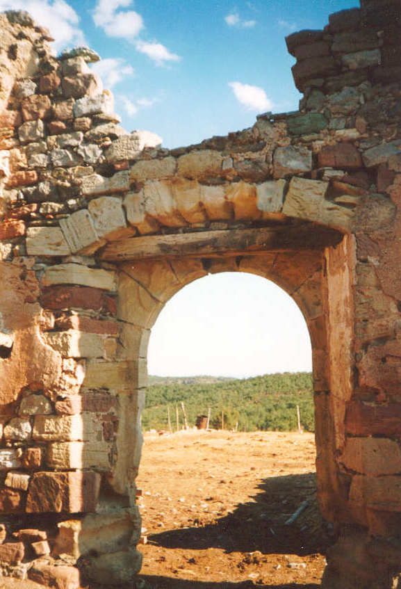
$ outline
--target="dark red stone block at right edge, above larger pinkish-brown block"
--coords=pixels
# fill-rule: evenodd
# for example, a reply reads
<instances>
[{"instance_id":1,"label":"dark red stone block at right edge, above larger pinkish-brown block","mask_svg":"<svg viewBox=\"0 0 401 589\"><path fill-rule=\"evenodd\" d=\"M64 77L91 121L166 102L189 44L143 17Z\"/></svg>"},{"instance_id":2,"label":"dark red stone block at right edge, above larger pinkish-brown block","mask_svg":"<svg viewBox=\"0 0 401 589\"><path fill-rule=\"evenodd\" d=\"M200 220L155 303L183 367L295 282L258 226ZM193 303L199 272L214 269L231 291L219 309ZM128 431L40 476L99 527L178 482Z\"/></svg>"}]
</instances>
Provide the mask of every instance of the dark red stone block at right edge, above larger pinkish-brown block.
<instances>
[{"instance_id":1,"label":"dark red stone block at right edge, above larger pinkish-brown block","mask_svg":"<svg viewBox=\"0 0 401 589\"><path fill-rule=\"evenodd\" d=\"M345 414L345 430L352 435L401 435L401 404L366 405L353 401Z\"/></svg>"}]
</instances>

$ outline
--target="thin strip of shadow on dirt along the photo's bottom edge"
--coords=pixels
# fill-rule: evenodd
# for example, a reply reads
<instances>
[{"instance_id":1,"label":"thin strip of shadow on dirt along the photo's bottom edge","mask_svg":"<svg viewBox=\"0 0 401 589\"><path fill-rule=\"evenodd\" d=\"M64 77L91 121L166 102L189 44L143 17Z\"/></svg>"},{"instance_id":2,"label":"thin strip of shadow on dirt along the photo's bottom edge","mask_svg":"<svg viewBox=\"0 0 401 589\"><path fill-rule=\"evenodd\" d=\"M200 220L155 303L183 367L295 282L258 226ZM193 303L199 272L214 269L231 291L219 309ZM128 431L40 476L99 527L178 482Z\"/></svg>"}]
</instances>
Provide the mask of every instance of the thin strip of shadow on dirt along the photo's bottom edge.
<instances>
[{"instance_id":1,"label":"thin strip of shadow on dirt along the photo's bottom edge","mask_svg":"<svg viewBox=\"0 0 401 589\"><path fill-rule=\"evenodd\" d=\"M242 583L213 583L210 581L183 581L165 576L141 575L137 589L318 589L320 585L255 585L252 581Z\"/></svg>"}]
</instances>

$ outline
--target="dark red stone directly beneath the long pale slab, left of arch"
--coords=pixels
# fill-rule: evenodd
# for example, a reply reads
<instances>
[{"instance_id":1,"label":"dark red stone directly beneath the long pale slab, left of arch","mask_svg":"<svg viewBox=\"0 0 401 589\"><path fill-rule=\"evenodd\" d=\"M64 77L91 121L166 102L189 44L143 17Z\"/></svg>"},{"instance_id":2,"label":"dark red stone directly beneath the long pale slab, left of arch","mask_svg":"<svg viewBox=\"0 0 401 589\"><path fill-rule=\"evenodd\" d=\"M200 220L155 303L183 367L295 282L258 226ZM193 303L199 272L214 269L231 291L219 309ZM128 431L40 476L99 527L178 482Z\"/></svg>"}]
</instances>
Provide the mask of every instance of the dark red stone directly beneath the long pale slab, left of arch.
<instances>
[{"instance_id":1,"label":"dark red stone directly beneath the long pale slab, left of arch","mask_svg":"<svg viewBox=\"0 0 401 589\"><path fill-rule=\"evenodd\" d=\"M93 309L116 312L116 303L101 289L92 287L49 287L42 291L42 305L47 309Z\"/></svg>"}]
</instances>

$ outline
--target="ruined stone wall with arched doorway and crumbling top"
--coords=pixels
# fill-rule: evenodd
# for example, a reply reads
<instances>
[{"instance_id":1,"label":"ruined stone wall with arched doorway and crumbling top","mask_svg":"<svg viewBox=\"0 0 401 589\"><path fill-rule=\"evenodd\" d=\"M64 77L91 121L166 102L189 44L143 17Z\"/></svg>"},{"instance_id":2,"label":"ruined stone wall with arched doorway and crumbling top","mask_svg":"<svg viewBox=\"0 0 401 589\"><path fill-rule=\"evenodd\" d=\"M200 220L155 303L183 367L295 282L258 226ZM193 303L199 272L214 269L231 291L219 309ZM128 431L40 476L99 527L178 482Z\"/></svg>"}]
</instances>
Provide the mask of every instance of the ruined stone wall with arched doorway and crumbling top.
<instances>
[{"instance_id":1,"label":"ruined stone wall with arched doorway and crumbling top","mask_svg":"<svg viewBox=\"0 0 401 589\"><path fill-rule=\"evenodd\" d=\"M290 35L300 111L166 150L119 126L92 51L55 58L0 15L3 575L135 577L150 329L184 285L244 271L311 334L322 587L400 586L400 19L361 0Z\"/></svg>"}]
</instances>

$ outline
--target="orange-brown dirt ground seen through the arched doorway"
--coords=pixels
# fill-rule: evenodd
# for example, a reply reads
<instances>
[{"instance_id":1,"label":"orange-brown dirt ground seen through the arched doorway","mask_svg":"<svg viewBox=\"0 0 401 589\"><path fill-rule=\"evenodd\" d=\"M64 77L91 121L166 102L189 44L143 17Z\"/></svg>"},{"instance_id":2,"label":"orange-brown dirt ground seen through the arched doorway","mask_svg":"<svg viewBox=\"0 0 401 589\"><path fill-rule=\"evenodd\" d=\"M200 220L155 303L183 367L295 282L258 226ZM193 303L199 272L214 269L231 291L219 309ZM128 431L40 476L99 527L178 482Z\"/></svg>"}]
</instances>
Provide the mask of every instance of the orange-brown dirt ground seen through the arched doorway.
<instances>
[{"instance_id":1,"label":"orange-brown dirt ground seen through the arched doorway","mask_svg":"<svg viewBox=\"0 0 401 589\"><path fill-rule=\"evenodd\" d=\"M329 538L314 461L308 433L145 434L137 587L317 588Z\"/></svg>"}]
</instances>

